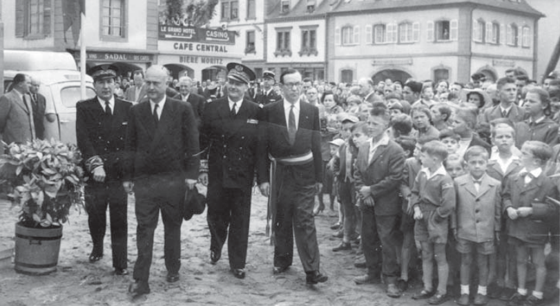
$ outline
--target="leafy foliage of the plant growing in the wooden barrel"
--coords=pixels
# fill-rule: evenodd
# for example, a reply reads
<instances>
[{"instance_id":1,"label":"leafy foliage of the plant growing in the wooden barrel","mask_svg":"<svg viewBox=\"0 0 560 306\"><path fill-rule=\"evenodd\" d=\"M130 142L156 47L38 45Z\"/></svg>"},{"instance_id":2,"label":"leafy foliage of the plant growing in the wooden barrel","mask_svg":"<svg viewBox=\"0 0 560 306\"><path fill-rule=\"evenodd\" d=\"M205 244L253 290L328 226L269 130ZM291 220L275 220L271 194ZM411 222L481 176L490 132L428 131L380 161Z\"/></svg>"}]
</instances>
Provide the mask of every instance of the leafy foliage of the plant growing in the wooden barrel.
<instances>
[{"instance_id":1,"label":"leafy foliage of the plant growing in the wooden barrel","mask_svg":"<svg viewBox=\"0 0 560 306\"><path fill-rule=\"evenodd\" d=\"M59 226L68 221L70 207L84 205L86 178L75 145L34 140L12 143L7 151L0 155L0 184L10 190L12 207L21 207L23 226Z\"/></svg>"}]
</instances>

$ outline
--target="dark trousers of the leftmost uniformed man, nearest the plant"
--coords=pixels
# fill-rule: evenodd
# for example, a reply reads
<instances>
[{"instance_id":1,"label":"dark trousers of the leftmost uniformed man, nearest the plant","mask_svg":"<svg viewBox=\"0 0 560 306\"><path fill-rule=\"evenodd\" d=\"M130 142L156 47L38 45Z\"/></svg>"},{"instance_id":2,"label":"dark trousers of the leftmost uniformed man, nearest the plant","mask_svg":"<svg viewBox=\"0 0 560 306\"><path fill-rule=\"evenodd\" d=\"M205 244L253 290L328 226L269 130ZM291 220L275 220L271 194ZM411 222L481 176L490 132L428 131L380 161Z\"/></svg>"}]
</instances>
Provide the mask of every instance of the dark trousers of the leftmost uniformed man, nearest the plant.
<instances>
[{"instance_id":1,"label":"dark trousers of the leftmost uniformed man, nearest the plant","mask_svg":"<svg viewBox=\"0 0 560 306\"><path fill-rule=\"evenodd\" d=\"M127 196L119 181L107 183L91 182L86 186L86 211L91 240L95 251L103 252L103 240L107 227L106 211L109 207L111 249L113 250L113 267L127 267Z\"/></svg>"}]
</instances>

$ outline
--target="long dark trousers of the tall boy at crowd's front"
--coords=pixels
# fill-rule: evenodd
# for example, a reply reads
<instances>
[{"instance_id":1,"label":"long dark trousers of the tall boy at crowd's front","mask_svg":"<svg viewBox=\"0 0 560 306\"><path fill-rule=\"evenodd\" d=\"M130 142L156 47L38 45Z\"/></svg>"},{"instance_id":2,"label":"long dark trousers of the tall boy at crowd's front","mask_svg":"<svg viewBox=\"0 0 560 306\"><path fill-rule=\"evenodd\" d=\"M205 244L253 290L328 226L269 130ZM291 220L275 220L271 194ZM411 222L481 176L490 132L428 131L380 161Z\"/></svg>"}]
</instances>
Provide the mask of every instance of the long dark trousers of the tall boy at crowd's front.
<instances>
[{"instance_id":1,"label":"long dark trousers of the tall boy at crowd's front","mask_svg":"<svg viewBox=\"0 0 560 306\"><path fill-rule=\"evenodd\" d=\"M378 273L381 262L386 284L394 284L398 277L398 263L396 257L397 245L397 216L376 216L374 209L363 209L362 245L365 262L370 274ZM379 256L378 244L381 242L382 258Z\"/></svg>"}]
</instances>

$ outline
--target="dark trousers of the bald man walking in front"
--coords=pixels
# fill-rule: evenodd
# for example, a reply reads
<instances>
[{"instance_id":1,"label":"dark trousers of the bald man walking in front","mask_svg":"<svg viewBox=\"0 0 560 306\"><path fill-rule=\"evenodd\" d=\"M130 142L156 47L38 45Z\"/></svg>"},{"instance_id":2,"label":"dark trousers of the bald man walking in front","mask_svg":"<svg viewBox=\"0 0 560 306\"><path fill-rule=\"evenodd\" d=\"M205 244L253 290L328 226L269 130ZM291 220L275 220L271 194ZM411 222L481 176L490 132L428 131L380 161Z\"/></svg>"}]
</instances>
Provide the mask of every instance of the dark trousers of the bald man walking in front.
<instances>
[{"instance_id":1,"label":"dark trousers of the bald man walking in front","mask_svg":"<svg viewBox=\"0 0 560 306\"><path fill-rule=\"evenodd\" d=\"M154 176L137 180L134 186L136 200L136 245L138 258L134 265L134 279L148 281L153 254L153 236L162 213L164 223L164 258L168 273L175 274L181 267L182 205L186 191L184 178Z\"/></svg>"}]
</instances>

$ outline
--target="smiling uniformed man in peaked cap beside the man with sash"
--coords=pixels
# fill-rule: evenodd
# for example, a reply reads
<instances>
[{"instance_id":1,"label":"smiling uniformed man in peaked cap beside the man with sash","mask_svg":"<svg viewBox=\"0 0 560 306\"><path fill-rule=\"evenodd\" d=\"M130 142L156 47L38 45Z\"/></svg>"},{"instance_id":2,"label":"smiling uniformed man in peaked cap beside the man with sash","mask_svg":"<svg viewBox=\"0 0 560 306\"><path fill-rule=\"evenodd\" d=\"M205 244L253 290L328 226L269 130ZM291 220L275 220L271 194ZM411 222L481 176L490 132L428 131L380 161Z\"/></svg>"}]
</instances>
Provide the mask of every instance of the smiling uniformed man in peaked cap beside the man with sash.
<instances>
[{"instance_id":1,"label":"smiling uniformed man in peaked cap beside the man with sash","mask_svg":"<svg viewBox=\"0 0 560 306\"><path fill-rule=\"evenodd\" d=\"M208 184L206 218L211 233L211 263L220 259L227 238L231 271L235 277L244 278L253 175L257 164L264 165L256 161L266 156L257 153L262 109L244 99L255 74L242 64L230 63L227 68L227 97L204 109L200 144L202 149L208 149L204 159L209 169L207 173L202 171L199 178ZM258 176L258 180L262 181L262 177Z\"/></svg>"}]
</instances>

